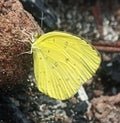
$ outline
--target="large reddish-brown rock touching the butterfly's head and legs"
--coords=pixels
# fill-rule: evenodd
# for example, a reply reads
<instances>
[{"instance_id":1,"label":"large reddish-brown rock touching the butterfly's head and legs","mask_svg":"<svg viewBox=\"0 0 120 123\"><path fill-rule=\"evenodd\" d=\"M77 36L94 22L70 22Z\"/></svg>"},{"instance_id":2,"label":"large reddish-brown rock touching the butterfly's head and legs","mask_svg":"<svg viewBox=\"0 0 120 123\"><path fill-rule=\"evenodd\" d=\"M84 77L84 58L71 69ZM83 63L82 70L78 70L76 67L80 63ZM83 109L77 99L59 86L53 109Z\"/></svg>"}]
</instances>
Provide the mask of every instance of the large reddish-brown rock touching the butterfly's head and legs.
<instances>
[{"instance_id":1,"label":"large reddish-brown rock touching the butterfly's head and legs","mask_svg":"<svg viewBox=\"0 0 120 123\"><path fill-rule=\"evenodd\" d=\"M27 80L32 66L28 41L41 29L19 0L0 0L0 88Z\"/></svg>"}]
</instances>

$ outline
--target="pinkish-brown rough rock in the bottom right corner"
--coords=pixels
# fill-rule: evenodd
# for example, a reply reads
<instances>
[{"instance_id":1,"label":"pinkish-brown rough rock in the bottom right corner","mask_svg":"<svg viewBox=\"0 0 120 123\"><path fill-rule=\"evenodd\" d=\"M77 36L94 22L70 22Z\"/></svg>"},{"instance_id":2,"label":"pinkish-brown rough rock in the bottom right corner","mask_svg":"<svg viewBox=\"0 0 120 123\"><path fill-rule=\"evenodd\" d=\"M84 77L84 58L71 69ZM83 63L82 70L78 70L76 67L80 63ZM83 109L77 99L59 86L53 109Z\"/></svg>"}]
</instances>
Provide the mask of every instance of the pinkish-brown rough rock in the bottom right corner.
<instances>
[{"instance_id":1,"label":"pinkish-brown rough rock in the bottom right corner","mask_svg":"<svg viewBox=\"0 0 120 123\"><path fill-rule=\"evenodd\" d=\"M94 98L91 102L91 112L95 123L120 122L120 93L115 96Z\"/></svg>"}]
</instances>

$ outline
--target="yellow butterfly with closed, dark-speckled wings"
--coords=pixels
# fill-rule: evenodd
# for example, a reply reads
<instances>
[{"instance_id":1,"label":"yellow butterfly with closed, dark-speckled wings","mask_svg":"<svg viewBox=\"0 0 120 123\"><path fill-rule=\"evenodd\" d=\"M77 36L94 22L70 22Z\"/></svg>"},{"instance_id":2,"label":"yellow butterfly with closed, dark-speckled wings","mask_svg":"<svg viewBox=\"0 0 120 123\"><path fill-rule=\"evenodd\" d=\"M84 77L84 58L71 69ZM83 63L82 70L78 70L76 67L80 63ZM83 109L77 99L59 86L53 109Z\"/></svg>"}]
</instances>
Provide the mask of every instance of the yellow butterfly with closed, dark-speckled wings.
<instances>
[{"instance_id":1,"label":"yellow butterfly with closed, dark-speckled wings","mask_svg":"<svg viewBox=\"0 0 120 123\"><path fill-rule=\"evenodd\" d=\"M43 34L32 44L32 52L38 89L60 100L77 93L101 62L90 44L64 32Z\"/></svg>"}]
</instances>

